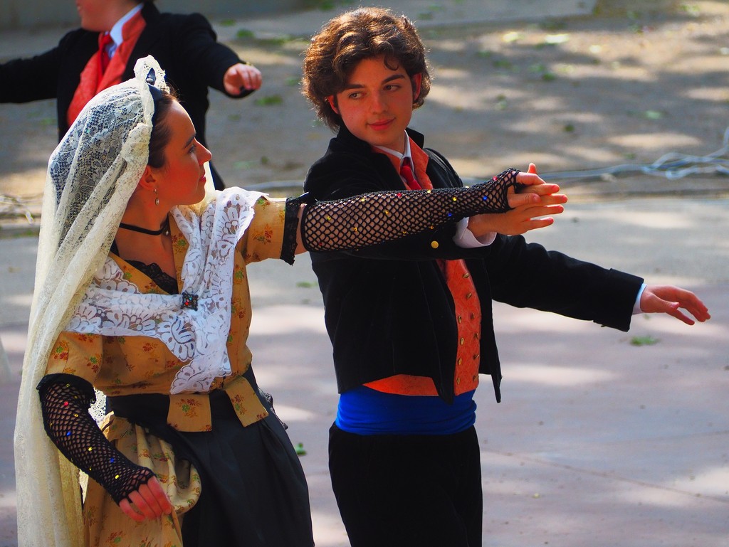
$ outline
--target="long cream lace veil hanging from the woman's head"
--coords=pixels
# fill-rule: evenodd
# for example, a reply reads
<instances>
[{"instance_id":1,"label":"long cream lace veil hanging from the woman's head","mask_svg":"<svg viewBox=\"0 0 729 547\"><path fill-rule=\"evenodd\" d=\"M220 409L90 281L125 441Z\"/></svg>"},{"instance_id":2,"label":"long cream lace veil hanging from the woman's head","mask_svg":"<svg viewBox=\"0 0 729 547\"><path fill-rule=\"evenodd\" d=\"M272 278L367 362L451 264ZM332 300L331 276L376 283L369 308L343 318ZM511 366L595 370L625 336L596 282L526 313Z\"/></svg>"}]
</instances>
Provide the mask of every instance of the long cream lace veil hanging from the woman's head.
<instances>
[{"instance_id":1,"label":"long cream lace veil hanging from the woman's head","mask_svg":"<svg viewBox=\"0 0 729 547\"><path fill-rule=\"evenodd\" d=\"M15 425L21 547L82 546L79 471L43 428L36 385L52 345L104 264L149 154L154 100L167 89L152 57L136 77L93 98L48 163L36 279Z\"/></svg>"}]
</instances>

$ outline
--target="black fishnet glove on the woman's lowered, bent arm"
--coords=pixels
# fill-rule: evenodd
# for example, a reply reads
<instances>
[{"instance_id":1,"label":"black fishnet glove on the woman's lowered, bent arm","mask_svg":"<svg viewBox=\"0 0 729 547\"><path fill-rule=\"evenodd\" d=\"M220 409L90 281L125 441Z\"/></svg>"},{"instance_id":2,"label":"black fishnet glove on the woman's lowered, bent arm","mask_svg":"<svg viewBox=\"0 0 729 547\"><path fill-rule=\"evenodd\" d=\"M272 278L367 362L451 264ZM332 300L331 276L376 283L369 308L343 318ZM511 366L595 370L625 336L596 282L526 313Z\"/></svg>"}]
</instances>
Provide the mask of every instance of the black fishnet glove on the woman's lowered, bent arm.
<instances>
[{"instance_id":1,"label":"black fishnet glove on the woman's lowered, bent arm","mask_svg":"<svg viewBox=\"0 0 729 547\"><path fill-rule=\"evenodd\" d=\"M61 453L101 484L117 504L155 473L112 446L88 412L93 387L67 374L45 377L38 386L46 433Z\"/></svg>"}]
</instances>

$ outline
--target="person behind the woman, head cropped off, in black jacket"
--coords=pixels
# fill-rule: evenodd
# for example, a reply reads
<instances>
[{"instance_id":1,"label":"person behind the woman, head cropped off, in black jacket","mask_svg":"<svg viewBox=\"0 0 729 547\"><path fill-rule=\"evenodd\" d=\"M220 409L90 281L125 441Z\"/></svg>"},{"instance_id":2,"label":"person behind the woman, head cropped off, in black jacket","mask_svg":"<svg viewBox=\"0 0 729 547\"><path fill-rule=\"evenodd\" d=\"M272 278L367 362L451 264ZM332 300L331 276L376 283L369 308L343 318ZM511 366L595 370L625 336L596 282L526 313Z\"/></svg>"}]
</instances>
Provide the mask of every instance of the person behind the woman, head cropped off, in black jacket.
<instances>
[{"instance_id":1,"label":"person behind the woman, head cropped off, in black jacket","mask_svg":"<svg viewBox=\"0 0 729 547\"><path fill-rule=\"evenodd\" d=\"M216 41L203 15L160 13L152 0L77 0L81 26L52 50L0 64L0 102L55 98L59 141L96 93L133 76L134 63L152 55L165 67L203 145L208 87L230 98L259 89L258 68ZM214 185L225 187L211 165Z\"/></svg>"}]
</instances>

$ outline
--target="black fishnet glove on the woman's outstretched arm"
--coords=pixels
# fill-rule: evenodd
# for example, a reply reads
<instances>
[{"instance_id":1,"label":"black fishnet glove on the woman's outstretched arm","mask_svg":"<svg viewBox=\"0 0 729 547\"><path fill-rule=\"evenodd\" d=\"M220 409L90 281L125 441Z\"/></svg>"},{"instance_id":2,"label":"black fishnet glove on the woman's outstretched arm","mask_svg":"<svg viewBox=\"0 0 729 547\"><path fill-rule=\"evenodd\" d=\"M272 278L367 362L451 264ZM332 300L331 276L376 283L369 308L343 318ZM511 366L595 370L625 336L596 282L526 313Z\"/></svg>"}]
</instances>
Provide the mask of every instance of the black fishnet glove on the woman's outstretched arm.
<instances>
[{"instance_id":1,"label":"black fishnet glove on the woman's outstretched arm","mask_svg":"<svg viewBox=\"0 0 729 547\"><path fill-rule=\"evenodd\" d=\"M301 237L307 251L344 251L414 235L481 213L510 210L507 192L519 187L507 169L470 188L391 190L307 205Z\"/></svg>"}]
</instances>

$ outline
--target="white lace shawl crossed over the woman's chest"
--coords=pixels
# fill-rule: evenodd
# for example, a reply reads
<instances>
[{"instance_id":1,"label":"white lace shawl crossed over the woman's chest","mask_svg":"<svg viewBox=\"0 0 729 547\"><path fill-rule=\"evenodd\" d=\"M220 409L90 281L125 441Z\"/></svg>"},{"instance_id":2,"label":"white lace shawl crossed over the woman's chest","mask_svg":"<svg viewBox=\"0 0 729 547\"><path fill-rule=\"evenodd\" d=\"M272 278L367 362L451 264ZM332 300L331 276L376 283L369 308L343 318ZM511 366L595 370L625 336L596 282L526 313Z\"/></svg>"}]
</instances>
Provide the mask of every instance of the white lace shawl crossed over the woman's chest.
<instances>
[{"instance_id":1,"label":"white lace shawl crossed over the woman's chest","mask_svg":"<svg viewBox=\"0 0 729 547\"><path fill-rule=\"evenodd\" d=\"M226 189L198 215L171 212L189 243L182 266L181 294L143 294L108 258L96 273L67 331L160 340L182 366L170 393L205 392L216 377L230 374L225 342L230 330L235 245L253 218L262 194ZM196 299L194 307L184 299Z\"/></svg>"}]
</instances>

